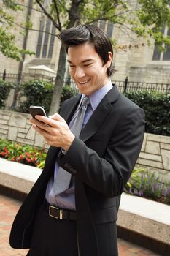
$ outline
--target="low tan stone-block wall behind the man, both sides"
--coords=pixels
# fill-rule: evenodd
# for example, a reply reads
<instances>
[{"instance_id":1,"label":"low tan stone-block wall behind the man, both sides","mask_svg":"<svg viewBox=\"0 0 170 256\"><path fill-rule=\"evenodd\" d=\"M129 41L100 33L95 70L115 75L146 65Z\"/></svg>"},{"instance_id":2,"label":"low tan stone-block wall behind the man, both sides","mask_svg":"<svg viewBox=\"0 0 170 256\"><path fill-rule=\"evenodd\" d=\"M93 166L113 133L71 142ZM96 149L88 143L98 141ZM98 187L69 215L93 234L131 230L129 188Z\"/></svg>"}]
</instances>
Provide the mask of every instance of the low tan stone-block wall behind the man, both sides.
<instances>
[{"instance_id":1,"label":"low tan stone-block wall behind the man, both sides","mask_svg":"<svg viewBox=\"0 0 170 256\"><path fill-rule=\"evenodd\" d=\"M0 138L47 148L42 136L31 128L30 117L25 113L0 110ZM145 133L137 166L147 167L170 181L170 137Z\"/></svg>"}]
</instances>

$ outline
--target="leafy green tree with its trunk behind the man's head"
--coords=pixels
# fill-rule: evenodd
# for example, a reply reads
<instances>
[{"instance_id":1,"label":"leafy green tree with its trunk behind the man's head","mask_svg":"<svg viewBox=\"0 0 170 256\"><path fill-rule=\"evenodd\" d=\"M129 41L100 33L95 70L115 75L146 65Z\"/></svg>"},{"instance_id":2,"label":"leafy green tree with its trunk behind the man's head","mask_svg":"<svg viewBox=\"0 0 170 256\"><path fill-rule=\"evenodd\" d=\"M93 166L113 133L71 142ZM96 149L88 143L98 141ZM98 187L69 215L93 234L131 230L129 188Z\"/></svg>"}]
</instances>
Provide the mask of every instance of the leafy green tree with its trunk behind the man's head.
<instances>
[{"instance_id":1,"label":"leafy green tree with its trunk behind the man's head","mask_svg":"<svg viewBox=\"0 0 170 256\"><path fill-rule=\"evenodd\" d=\"M47 0L45 2L47 3ZM161 50L166 50L166 45L170 44L170 37L164 37L161 32L164 26L170 27L169 0L48 0L48 2L49 10L45 9L44 0L36 0L39 9L50 18L58 32L78 23L109 20L115 26L120 26L125 33L131 31L136 37L144 37L148 44L150 39L155 39L155 44ZM18 6L15 0L4 0L4 4L8 4L9 7ZM61 45L50 113L55 113L59 107L65 64L66 52Z\"/></svg>"}]
</instances>

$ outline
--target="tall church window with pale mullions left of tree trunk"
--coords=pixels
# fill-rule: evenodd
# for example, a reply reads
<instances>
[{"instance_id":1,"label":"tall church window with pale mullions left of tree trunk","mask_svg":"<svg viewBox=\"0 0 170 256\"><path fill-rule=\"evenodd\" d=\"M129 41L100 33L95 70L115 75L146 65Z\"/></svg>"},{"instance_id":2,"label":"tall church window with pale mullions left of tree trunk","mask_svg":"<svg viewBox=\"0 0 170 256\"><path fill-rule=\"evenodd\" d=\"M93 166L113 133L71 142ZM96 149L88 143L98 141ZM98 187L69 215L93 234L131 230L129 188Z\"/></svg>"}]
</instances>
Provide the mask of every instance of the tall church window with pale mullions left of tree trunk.
<instances>
[{"instance_id":1,"label":"tall church window with pale mullions left of tree trunk","mask_svg":"<svg viewBox=\"0 0 170 256\"><path fill-rule=\"evenodd\" d=\"M36 58L48 58L53 56L55 41L55 26L50 20L42 18L39 24L39 37L36 45Z\"/></svg>"}]
</instances>

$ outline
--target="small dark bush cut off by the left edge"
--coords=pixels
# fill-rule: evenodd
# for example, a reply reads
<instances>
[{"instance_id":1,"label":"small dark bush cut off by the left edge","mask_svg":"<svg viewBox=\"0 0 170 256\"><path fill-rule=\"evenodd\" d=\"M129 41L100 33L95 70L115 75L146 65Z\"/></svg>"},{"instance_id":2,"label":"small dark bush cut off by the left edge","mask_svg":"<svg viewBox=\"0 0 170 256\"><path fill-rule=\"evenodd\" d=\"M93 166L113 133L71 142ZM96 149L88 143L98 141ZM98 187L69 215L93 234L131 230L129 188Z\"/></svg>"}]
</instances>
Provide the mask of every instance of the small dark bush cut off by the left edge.
<instances>
[{"instance_id":1,"label":"small dark bush cut off by the left edge","mask_svg":"<svg viewBox=\"0 0 170 256\"><path fill-rule=\"evenodd\" d=\"M10 89L14 88L14 85L4 80L0 80L0 108L4 107L4 101L7 99Z\"/></svg>"}]
</instances>

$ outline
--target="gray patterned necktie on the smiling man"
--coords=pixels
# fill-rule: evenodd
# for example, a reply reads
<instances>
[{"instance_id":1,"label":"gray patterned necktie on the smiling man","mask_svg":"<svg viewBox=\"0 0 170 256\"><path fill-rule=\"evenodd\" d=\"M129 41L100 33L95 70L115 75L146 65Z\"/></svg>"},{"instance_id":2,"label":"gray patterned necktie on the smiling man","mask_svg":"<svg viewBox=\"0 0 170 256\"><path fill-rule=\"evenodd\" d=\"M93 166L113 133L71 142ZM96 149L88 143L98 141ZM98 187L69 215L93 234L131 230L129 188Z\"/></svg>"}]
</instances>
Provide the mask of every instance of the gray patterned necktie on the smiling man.
<instances>
[{"instance_id":1,"label":"gray patterned necktie on the smiling man","mask_svg":"<svg viewBox=\"0 0 170 256\"><path fill-rule=\"evenodd\" d=\"M88 97L84 97L82 99L82 104L80 105L80 108L77 110L77 113L75 114L74 119L72 120L72 127L70 127L70 129L77 137L80 136L83 120L85 118L85 111L87 110L89 104L90 101ZM59 195L62 192L66 191L66 189L69 189L71 178L71 173L59 167L58 175L53 184L54 194Z\"/></svg>"}]
</instances>

